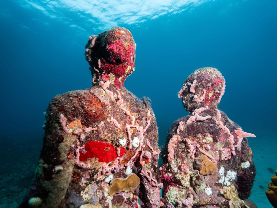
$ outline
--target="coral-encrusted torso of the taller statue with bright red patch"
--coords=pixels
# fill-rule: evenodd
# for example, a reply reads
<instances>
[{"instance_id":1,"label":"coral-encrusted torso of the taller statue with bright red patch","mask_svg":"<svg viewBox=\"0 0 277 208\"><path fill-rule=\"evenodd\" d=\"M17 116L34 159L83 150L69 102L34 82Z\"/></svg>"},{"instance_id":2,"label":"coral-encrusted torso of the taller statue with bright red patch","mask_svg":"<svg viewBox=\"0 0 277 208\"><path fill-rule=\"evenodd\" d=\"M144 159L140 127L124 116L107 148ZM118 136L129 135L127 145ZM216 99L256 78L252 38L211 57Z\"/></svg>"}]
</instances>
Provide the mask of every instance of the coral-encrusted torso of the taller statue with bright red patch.
<instances>
[{"instance_id":1,"label":"coral-encrusted torso of the taller statue with bright red patch","mask_svg":"<svg viewBox=\"0 0 277 208\"><path fill-rule=\"evenodd\" d=\"M111 181L132 175L131 168L135 173L141 172L142 166L144 170L152 170L159 181L156 177L159 176L158 154L153 155L147 146L149 141L149 145L158 150L156 118L148 101L137 98L124 87L107 86L106 92L112 92L113 96L103 88L96 85L68 92L50 102L37 181L29 192L29 198L44 199L42 207L80 207L84 204L103 208L135 207L140 186L137 184L133 190L111 196ZM119 94L123 101L121 108L128 109L130 116L120 108ZM65 126L61 116L66 118ZM126 125L132 124L132 116L134 125L145 132L142 132L143 141L134 141L128 148ZM132 140L140 138L136 127L130 127L129 131ZM143 151L151 153L151 159L137 151L140 142L145 145L141 147ZM146 190L144 194L151 189L150 197L142 202L147 204L156 198L150 207L158 207L160 188L138 175L142 180L141 190Z\"/></svg>"}]
</instances>

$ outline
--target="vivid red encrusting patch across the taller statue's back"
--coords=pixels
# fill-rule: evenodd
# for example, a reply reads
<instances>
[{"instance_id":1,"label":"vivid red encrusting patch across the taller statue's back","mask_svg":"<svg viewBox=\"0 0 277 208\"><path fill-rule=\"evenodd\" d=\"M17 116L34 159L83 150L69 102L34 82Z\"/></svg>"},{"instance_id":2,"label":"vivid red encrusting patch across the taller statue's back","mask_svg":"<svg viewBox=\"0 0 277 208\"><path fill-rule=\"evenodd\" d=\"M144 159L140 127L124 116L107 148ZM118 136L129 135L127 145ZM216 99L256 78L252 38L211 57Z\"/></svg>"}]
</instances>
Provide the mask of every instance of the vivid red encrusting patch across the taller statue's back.
<instances>
[{"instance_id":1,"label":"vivid red encrusting patch across the taller statue's back","mask_svg":"<svg viewBox=\"0 0 277 208\"><path fill-rule=\"evenodd\" d=\"M89 141L85 143L86 153L80 151L80 160L86 161L88 158L98 158L99 162L111 162L117 158L116 148L105 142ZM124 148L120 149L120 157L126 153Z\"/></svg>"}]
</instances>

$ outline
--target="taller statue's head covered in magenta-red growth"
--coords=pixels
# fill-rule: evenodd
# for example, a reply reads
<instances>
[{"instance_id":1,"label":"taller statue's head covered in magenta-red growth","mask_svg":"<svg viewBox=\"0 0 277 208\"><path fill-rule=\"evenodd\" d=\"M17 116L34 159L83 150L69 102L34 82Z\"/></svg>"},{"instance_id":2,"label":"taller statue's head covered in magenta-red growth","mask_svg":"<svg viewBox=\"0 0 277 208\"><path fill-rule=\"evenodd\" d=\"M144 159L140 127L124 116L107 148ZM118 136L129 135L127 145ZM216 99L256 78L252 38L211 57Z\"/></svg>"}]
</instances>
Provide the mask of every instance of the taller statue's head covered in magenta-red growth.
<instances>
[{"instance_id":1,"label":"taller statue's head covered in magenta-red growth","mask_svg":"<svg viewBox=\"0 0 277 208\"><path fill-rule=\"evenodd\" d=\"M110 80L117 88L123 86L135 67L136 44L130 31L113 27L98 35L91 35L85 46L93 84Z\"/></svg>"}]
</instances>

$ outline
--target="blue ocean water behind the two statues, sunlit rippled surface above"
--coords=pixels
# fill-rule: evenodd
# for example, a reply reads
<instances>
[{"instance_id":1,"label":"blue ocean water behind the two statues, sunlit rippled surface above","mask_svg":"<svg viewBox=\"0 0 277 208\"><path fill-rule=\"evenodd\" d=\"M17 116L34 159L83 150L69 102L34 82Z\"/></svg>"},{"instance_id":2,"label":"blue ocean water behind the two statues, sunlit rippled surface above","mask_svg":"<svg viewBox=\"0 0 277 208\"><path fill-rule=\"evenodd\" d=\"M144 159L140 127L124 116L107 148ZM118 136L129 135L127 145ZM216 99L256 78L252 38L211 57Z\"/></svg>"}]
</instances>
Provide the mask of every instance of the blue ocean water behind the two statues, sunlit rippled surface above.
<instances>
[{"instance_id":1,"label":"blue ocean water behind the two statues, sunlit rippled surface above","mask_svg":"<svg viewBox=\"0 0 277 208\"><path fill-rule=\"evenodd\" d=\"M152 101L163 146L172 122L187 115L177 92L197 68L226 79L219 109L244 131L257 175L250 199L265 196L277 168L276 0L0 1L0 207L16 207L42 146L43 112L56 94L91 86L88 36L128 28L136 70L125 86Z\"/></svg>"}]
</instances>

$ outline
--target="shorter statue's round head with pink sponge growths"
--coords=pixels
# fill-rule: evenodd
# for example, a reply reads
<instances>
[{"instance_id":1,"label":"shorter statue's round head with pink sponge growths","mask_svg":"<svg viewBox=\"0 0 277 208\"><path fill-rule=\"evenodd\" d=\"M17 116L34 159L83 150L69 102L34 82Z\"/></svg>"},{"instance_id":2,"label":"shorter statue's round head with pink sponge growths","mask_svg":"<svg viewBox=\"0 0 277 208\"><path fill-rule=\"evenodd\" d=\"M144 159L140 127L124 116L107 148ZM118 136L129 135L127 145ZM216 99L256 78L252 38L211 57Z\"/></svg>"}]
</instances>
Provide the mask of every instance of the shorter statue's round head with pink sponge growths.
<instances>
[{"instance_id":1,"label":"shorter statue's round head with pink sponge growths","mask_svg":"<svg viewBox=\"0 0 277 208\"><path fill-rule=\"evenodd\" d=\"M225 79L220 71L212 67L195 70L183 83L178 97L188 112L208 106L214 110L225 91Z\"/></svg>"}]
</instances>

